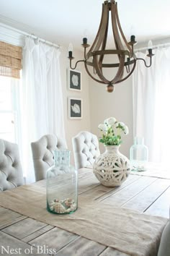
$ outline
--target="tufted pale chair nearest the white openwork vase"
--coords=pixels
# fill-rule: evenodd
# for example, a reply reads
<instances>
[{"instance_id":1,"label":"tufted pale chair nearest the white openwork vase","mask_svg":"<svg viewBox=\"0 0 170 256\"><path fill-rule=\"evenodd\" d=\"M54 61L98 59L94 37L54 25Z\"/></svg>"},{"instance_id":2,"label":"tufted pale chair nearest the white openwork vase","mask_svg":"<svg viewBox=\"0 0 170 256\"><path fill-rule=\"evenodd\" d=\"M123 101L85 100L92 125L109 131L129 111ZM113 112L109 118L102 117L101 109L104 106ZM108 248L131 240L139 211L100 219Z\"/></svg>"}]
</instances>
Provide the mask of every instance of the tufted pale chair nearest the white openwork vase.
<instances>
[{"instance_id":1,"label":"tufted pale chair nearest the white openwork vase","mask_svg":"<svg viewBox=\"0 0 170 256\"><path fill-rule=\"evenodd\" d=\"M76 168L91 166L100 155L99 142L91 132L79 132L72 138L73 155Z\"/></svg>"}]
</instances>

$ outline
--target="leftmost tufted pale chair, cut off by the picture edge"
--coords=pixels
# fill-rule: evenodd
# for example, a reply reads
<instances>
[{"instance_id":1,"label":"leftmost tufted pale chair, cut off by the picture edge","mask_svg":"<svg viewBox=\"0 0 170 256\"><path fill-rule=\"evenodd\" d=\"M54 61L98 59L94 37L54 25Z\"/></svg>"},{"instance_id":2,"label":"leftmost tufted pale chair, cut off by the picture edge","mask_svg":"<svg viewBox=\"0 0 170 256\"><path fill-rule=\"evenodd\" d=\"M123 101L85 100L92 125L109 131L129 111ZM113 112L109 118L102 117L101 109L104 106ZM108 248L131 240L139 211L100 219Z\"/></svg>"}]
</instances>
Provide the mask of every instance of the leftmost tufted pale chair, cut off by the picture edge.
<instances>
[{"instance_id":1,"label":"leftmost tufted pale chair, cut off by the picture edge","mask_svg":"<svg viewBox=\"0 0 170 256\"><path fill-rule=\"evenodd\" d=\"M0 191L24 184L18 145L0 139Z\"/></svg>"}]
</instances>

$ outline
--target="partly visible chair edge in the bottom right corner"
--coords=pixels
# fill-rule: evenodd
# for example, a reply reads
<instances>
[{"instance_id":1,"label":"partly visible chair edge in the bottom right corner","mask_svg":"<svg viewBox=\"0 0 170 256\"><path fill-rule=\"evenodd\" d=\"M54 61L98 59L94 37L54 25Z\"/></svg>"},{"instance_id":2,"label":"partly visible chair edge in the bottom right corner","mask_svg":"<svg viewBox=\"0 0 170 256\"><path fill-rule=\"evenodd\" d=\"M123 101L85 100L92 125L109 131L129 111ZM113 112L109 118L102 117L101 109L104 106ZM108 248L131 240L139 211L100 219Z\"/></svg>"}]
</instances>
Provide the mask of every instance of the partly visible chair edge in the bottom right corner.
<instances>
[{"instance_id":1,"label":"partly visible chair edge in the bottom right corner","mask_svg":"<svg viewBox=\"0 0 170 256\"><path fill-rule=\"evenodd\" d=\"M169 209L170 218L170 209ZM170 255L170 221L166 224L164 231L162 232L161 242L158 248L158 256Z\"/></svg>"}]
</instances>

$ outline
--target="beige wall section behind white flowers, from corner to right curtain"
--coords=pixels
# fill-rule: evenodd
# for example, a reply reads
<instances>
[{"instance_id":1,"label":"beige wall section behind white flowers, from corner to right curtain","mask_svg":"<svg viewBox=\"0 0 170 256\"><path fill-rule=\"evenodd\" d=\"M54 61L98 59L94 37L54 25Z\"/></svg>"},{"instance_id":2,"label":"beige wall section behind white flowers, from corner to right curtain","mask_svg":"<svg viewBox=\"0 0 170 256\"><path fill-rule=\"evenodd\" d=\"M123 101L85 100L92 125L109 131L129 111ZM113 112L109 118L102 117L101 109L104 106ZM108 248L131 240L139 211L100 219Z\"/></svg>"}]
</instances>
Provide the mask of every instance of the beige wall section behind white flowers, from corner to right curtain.
<instances>
[{"instance_id":1,"label":"beige wall section behind white flowers, from corner to right curtain","mask_svg":"<svg viewBox=\"0 0 170 256\"><path fill-rule=\"evenodd\" d=\"M110 76L112 69L107 69ZM90 103L91 103L91 132L100 136L97 128L100 123L110 116L128 125L129 135L122 135L123 143L120 152L129 157L130 146L133 144L133 80L132 76L115 85L115 91L107 93L106 86L94 80L89 82ZM100 143L101 144L101 143ZM100 145L104 151L104 146Z\"/></svg>"}]
</instances>

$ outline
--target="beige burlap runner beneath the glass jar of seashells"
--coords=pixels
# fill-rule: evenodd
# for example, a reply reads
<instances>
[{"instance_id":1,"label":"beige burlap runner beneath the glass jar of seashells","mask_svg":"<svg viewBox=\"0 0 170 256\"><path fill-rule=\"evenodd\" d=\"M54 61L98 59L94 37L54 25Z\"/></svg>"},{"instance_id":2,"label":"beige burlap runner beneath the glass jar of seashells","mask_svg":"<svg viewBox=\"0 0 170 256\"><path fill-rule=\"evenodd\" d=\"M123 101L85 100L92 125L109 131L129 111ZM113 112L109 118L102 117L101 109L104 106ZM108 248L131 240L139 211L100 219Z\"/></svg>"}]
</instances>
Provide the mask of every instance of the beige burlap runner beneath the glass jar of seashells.
<instances>
[{"instance_id":1,"label":"beige burlap runner beneath the glass jar of seashells","mask_svg":"<svg viewBox=\"0 0 170 256\"><path fill-rule=\"evenodd\" d=\"M37 221L71 231L132 256L156 256L166 218L114 208L79 196L71 215L46 210L45 188L27 185L0 193L0 205Z\"/></svg>"}]
</instances>

